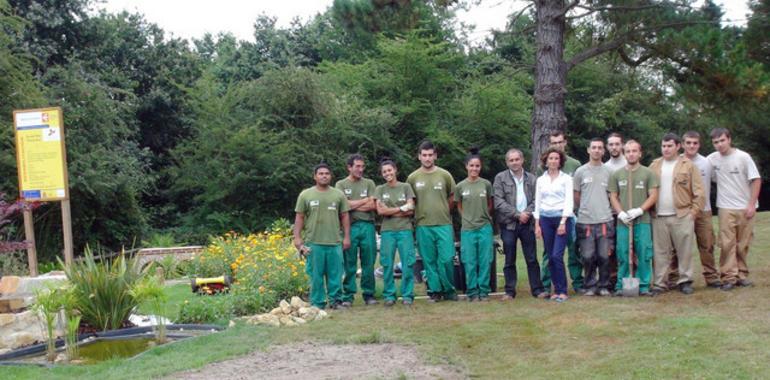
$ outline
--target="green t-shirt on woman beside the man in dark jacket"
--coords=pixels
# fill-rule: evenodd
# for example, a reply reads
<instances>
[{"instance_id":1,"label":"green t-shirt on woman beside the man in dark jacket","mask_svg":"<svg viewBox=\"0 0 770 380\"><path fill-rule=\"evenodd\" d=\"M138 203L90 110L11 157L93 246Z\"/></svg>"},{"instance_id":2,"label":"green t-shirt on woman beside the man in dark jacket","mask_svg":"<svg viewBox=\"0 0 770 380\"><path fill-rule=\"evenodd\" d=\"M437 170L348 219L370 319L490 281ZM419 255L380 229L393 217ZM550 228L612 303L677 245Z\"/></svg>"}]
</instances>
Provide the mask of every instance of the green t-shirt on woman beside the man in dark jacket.
<instances>
[{"instance_id":1,"label":"green t-shirt on woman beside the man in dark jacket","mask_svg":"<svg viewBox=\"0 0 770 380\"><path fill-rule=\"evenodd\" d=\"M455 188L455 202L462 204L462 229L477 230L492 224L489 216L489 200L492 199L492 184L484 178L475 182L464 179Z\"/></svg>"}]
</instances>

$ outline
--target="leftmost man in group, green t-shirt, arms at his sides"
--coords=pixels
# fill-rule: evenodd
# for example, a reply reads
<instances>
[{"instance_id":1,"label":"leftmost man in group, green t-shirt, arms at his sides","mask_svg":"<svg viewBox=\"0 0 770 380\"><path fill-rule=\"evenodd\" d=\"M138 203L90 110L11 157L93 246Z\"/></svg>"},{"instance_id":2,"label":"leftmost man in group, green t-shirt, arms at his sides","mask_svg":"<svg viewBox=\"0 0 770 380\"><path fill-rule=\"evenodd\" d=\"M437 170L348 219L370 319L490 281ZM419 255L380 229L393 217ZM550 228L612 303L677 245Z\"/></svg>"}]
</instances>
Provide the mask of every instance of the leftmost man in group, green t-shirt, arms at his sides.
<instances>
[{"instance_id":1,"label":"leftmost man in group, green t-shirt, arms at his sides","mask_svg":"<svg viewBox=\"0 0 770 380\"><path fill-rule=\"evenodd\" d=\"M344 307L340 280L342 249L350 248L348 202L341 191L329 186L332 173L326 163L316 165L313 169L313 179L315 186L302 191L294 207L294 246L307 255L307 265L310 267L310 303L323 309L328 297L331 307L337 309Z\"/></svg>"}]
</instances>

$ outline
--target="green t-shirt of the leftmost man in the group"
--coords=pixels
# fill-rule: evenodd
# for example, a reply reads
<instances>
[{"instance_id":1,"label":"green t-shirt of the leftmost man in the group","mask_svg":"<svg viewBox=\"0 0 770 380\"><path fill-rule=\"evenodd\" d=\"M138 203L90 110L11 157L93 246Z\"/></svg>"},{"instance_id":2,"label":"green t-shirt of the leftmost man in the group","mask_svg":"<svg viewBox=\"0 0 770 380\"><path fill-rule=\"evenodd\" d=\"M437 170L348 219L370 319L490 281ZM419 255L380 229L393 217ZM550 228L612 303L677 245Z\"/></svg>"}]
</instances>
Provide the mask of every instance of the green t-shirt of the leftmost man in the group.
<instances>
[{"instance_id":1,"label":"green t-shirt of the leftmost man in the group","mask_svg":"<svg viewBox=\"0 0 770 380\"><path fill-rule=\"evenodd\" d=\"M305 241L320 245L337 245L340 236L340 214L349 209L345 195L337 189L318 191L315 186L297 197L294 211L305 214Z\"/></svg>"}]
</instances>

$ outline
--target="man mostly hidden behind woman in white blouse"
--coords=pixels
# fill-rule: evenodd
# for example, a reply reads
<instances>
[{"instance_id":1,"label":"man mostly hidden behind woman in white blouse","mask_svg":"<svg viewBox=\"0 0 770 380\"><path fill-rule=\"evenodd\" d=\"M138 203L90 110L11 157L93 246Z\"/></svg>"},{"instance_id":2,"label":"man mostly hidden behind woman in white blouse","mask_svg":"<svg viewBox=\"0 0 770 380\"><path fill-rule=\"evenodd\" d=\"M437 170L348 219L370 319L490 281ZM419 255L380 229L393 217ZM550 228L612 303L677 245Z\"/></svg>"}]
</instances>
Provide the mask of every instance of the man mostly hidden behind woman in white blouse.
<instances>
[{"instance_id":1,"label":"man mostly hidden behind woman in white blouse","mask_svg":"<svg viewBox=\"0 0 770 380\"><path fill-rule=\"evenodd\" d=\"M564 132L562 131L554 131L551 132L551 135L548 136L548 141L550 143L551 148L556 148L561 150L562 152L565 152L564 156L567 157L566 161L564 162L564 167L561 169L566 174L569 174L570 176L575 175L575 171L580 167L580 161L567 156L567 137L564 136ZM543 174L542 166L539 167L537 175L540 176ZM569 236L567 237L567 270L569 271L569 277L572 279L572 289L575 290L577 293L584 293L585 289L583 288L583 262L581 261L580 254L577 251L577 245L575 244L576 239L576 233L575 233L575 217L572 217L572 229L567 231ZM546 289L551 288L551 271L548 270L548 256L543 253L543 261L540 263L540 273L541 278L543 280L543 286Z\"/></svg>"}]
</instances>

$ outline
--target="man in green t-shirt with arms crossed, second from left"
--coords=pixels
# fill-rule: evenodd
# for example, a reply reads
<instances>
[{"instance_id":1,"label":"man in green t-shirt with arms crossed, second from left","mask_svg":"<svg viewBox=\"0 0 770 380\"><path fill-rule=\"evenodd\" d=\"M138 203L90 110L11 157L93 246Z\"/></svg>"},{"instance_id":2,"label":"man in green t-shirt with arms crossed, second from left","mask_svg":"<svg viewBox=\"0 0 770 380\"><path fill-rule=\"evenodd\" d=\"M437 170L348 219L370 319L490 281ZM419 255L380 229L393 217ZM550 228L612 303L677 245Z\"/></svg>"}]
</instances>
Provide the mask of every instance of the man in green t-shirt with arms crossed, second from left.
<instances>
[{"instance_id":1,"label":"man in green t-shirt with arms crossed, second from left","mask_svg":"<svg viewBox=\"0 0 770 380\"><path fill-rule=\"evenodd\" d=\"M366 164L358 153L347 160L348 176L334 187L345 194L350 207L350 248L343 252L345 274L342 278L342 303L351 306L356 294L356 271L361 258L361 292L364 304L375 305L374 261L377 237L374 229L374 181L364 178Z\"/></svg>"}]
</instances>

